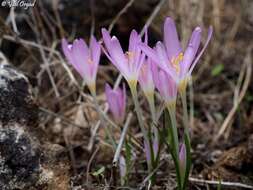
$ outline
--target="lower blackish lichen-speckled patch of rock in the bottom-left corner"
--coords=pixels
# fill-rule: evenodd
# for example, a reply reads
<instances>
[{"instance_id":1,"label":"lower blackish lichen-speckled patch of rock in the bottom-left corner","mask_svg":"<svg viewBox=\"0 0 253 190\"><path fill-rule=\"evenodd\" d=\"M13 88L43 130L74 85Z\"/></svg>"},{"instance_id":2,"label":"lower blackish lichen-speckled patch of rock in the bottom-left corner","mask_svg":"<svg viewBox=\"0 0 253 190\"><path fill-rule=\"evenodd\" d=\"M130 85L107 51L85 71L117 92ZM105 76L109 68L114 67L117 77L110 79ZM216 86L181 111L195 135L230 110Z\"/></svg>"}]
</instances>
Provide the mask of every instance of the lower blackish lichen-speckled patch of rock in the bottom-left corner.
<instances>
[{"instance_id":1,"label":"lower blackish lichen-speckled patch of rock in the bottom-left corner","mask_svg":"<svg viewBox=\"0 0 253 190\"><path fill-rule=\"evenodd\" d=\"M0 189L24 189L40 177L40 151L21 126L0 127Z\"/></svg>"}]
</instances>

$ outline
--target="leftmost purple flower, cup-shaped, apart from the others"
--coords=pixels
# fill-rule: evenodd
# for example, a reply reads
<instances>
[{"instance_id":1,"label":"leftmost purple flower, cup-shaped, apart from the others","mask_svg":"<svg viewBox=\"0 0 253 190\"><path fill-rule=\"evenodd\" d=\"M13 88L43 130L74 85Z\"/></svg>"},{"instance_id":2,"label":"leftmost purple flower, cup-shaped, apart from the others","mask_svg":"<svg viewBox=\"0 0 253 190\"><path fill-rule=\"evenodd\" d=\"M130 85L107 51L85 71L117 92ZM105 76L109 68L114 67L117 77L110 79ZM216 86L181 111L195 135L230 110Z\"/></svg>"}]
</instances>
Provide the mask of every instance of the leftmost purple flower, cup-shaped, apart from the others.
<instances>
[{"instance_id":1,"label":"leftmost purple flower, cup-shaped, apart from the others","mask_svg":"<svg viewBox=\"0 0 253 190\"><path fill-rule=\"evenodd\" d=\"M95 92L101 55L101 47L95 37L91 37L90 47L83 39L76 39L73 44L68 44L66 39L62 39L62 49L67 60L84 79L90 91Z\"/></svg>"}]
</instances>

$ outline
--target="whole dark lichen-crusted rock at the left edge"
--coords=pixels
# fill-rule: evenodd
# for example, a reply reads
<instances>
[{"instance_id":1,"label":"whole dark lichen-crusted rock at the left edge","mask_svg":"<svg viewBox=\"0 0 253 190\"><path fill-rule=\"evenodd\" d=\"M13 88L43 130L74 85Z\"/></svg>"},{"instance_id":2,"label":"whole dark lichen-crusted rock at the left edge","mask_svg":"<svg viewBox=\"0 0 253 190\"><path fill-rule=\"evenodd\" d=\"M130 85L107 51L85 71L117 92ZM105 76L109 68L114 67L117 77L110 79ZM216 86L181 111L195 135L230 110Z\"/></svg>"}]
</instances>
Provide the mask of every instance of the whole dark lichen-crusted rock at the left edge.
<instances>
[{"instance_id":1,"label":"whole dark lichen-crusted rock at the left edge","mask_svg":"<svg viewBox=\"0 0 253 190\"><path fill-rule=\"evenodd\" d=\"M1 190L69 189L63 148L38 129L38 113L28 79L0 63Z\"/></svg>"}]
</instances>

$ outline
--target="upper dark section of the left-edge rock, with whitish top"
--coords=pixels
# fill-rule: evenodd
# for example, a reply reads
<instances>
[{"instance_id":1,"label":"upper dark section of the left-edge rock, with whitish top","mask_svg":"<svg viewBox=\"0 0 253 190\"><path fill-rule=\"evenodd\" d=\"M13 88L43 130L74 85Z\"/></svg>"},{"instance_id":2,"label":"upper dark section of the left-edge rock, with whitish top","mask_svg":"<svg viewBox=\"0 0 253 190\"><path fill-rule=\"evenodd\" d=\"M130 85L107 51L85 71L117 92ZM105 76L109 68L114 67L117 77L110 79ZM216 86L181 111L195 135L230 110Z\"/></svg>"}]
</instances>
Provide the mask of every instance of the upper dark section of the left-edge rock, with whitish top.
<instances>
[{"instance_id":1,"label":"upper dark section of the left-edge rock, with whitish top","mask_svg":"<svg viewBox=\"0 0 253 190\"><path fill-rule=\"evenodd\" d=\"M38 119L28 79L11 66L0 64L0 121L28 124Z\"/></svg>"}]
</instances>

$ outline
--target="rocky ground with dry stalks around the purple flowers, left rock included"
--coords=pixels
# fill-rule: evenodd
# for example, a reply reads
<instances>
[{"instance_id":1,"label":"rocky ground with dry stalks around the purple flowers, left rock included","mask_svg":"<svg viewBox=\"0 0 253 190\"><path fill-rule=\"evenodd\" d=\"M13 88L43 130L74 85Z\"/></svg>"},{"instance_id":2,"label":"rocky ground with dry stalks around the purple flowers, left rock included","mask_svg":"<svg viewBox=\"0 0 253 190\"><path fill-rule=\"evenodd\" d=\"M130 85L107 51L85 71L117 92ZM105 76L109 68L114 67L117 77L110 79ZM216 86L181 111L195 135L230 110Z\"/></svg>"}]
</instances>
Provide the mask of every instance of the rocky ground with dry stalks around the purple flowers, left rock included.
<instances>
[{"instance_id":1,"label":"rocky ground with dry stalks around the purple flowers, left rock included","mask_svg":"<svg viewBox=\"0 0 253 190\"><path fill-rule=\"evenodd\" d=\"M29 10L15 9L14 17L10 9L0 7L1 190L143 187L147 172L137 146L140 133L136 119L130 122L129 135L137 141L133 146L138 159L130 183L121 187L118 171L111 164L113 150L103 130L93 136L98 114L82 80L62 56L60 39L87 40L90 33L99 38L100 28L111 25L112 33L127 47L130 30L140 31L149 23L149 41L153 44L161 38L160 28L168 15L176 19L184 43L196 25L205 29L213 25L215 30L189 89L190 93L194 90L188 97L194 105L190 106L193 170L189 189L217 189L220 179L226 182L222 189L252 189L253 3L159 2L45 0ZM113 84L117 76L103 56L97 81L102 108L104 83ZM147 105L141 103L148 121ZM116 138L119 135L115 131ZM103 167L102 175L93 175ZM174 167L166 154L157 176L153 189L175 188Z\"/></svg>"}]
</instances>

